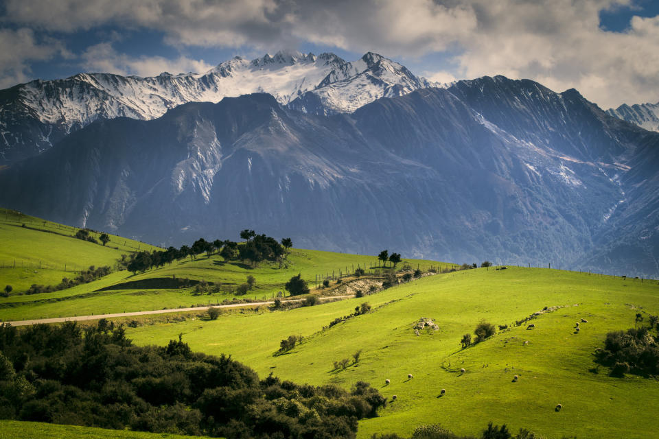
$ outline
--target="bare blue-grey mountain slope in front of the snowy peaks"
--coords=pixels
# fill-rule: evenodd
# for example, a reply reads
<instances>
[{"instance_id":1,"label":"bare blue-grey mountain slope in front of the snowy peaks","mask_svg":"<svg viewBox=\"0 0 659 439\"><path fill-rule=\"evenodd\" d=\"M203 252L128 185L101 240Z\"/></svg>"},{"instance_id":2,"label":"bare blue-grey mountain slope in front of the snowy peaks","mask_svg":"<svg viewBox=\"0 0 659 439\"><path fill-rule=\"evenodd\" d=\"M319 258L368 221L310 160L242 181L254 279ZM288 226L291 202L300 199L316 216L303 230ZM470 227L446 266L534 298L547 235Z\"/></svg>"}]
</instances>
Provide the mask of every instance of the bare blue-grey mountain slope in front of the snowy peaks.
<instances>
[{"instance_id":1,"label":"bare blue-grey mountain slope in front of the snowy peaks","mask_svg":"<svg viewBox=\"0 0 659 439\"><path fill-rule=\"evenodd\" d=\"M502 77L331 117L254 94L92 123L0 171L21 188L0 203L162 244L248 227L325 250L656 276L658 151L659 134L576 91Z\"/></svg>"}]
</instances>

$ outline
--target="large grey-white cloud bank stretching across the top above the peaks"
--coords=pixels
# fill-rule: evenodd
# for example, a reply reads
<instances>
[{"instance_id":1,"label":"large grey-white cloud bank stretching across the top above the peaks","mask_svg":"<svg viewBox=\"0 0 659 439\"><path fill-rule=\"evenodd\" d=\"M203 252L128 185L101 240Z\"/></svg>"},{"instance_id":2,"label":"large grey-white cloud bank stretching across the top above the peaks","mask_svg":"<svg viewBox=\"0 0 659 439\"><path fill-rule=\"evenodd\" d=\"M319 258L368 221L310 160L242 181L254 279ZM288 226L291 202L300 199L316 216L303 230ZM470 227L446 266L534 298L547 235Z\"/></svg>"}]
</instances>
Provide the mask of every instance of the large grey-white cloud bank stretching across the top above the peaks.
<instances>
[{"instance_id":1,"label":"large grey-white cloud bank stretching across the top above the peaks","mask_svg":"<svg viewBox=\"0 0 659 439\"><path fill-rule=\"evenodd\" d=\"M658 18L636 16L623 33L599 27L601 10L623 5L635 7L633 0L6 0L5 21L45 32L156 29L183 53L189 46L270 51L307 42L413 65L448 50L456 54L451 68L434 69L437 78L503 74L556 91L575 87L601 106L656 102ZM166 64L113 60L135 71L159 62Z\"/></svg>"}]
</instances>

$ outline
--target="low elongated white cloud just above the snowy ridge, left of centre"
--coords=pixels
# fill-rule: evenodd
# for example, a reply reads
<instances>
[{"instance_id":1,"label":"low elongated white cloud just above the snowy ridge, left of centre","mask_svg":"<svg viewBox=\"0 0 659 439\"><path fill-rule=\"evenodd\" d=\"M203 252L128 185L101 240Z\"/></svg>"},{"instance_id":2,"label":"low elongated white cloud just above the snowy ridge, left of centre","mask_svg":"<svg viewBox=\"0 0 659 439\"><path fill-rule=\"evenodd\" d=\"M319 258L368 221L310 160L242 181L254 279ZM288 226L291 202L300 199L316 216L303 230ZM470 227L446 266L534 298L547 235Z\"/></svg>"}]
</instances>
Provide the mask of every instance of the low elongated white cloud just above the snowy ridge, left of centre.
<instances>
[{"instance_id":1,"label":"low elongated white cloud just above the snowy ridge, left of centre","mask_svg":"<svg viewBox=\"0 0 659 439\"><path fill-rule=\"evenodd\" d=\"M111 43L99 43L88 47L82 54L82 67L86 71L111 72L119 75L154 76L162 72L205 73L213 68L204 60L179 56L174 60L162 56L131 57L117 52Z\"/></svg>"}]
</instances>

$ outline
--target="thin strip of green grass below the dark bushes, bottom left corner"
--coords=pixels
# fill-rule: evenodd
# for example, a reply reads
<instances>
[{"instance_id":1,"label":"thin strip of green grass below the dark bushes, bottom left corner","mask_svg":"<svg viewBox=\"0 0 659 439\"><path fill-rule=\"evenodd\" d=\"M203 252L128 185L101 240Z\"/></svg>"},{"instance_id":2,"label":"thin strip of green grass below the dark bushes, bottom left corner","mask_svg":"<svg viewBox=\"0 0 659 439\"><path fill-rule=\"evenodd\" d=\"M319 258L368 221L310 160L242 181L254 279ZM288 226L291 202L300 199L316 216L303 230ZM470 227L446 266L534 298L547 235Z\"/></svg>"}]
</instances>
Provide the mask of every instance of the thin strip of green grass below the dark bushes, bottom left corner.
<instances>
[{"instance_id":1,"label":"thin strip of green grass below the dark bushes, bottom left corner","mask_svg":"<svg viewBox=\"0 0 659 439\"><path fill-rule=\"evenodd\" d=\"M0 436L3 439L192 439L202 436L180 436L166 433L142 433L141 431L108 430L78 425L28 423L16 420L0 420Z\"/></svg>"}]
</instances>

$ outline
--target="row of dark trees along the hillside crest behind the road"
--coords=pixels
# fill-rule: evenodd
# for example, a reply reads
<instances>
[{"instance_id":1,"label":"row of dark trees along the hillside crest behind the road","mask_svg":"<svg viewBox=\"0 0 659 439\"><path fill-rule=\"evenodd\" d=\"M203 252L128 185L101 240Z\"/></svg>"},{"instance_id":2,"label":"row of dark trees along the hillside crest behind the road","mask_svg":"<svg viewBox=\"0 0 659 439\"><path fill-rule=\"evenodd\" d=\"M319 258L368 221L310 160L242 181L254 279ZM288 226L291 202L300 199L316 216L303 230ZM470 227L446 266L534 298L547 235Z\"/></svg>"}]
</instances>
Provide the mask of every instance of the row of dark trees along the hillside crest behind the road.
<instances>
[{"instance_id":1,"label":"row of dark trees along the hillside crest behind the road","mask_svg":"<svg viewBox=\"0 0 659 439\"><path fill-rule=\"evenodd\" d=\"M152 268L162 267L165 264L172 265L174 261L181 261L189 257L192 261L200 254L219 254L224 261L248 261L254 265L262 261L281 261L288 250L293 246L290 238L277 239L265 234L257 235L254 230L245 229L240 232L244 242L215 239L206 241L199 238L191 246L183 245L181 248L170 246L167 250L153 250L152 252L141 251L130 255L124 260L126 268L135 274L145 272Z\"/></svg>"}]
</instances>

